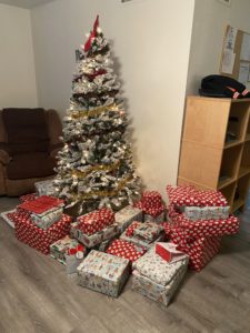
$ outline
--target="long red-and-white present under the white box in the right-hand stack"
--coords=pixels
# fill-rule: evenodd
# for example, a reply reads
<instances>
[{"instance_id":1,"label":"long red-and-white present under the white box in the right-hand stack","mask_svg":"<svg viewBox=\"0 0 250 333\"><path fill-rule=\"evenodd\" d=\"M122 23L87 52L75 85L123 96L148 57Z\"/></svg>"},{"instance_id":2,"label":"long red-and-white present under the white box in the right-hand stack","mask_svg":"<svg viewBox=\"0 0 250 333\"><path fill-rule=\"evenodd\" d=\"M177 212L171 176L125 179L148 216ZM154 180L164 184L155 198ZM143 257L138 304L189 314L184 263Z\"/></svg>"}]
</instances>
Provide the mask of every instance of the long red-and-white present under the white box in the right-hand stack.
<instances>
[{"instance_id":1,"label":"long red-and-white present under the white box in the right-hand stack","mask_svg":"<svg viewBox=\"0 0 250 333\"><path fill-rule=\"evenodd\" d=\"M188 220L182 213L169 206L169 220L174 225L186 231L188 236L221 236L236 234L239 231L240 221L230 215L226 220Z\"/></svg>"}]
</instances>

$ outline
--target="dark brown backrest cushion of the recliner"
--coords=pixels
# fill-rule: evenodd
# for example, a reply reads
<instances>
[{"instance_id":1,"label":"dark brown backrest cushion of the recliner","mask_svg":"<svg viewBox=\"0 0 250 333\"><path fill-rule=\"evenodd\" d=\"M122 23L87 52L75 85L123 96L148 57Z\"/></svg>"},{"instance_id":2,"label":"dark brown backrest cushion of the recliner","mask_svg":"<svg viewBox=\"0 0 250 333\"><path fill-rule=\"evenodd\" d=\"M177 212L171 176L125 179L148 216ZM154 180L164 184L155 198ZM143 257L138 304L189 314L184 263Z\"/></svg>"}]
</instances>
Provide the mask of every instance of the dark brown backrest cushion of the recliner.
<instances>
[{"instance_id":1,"label":"dark brown backrest cushion of the recliner","mask_svg":"<svg viewBox=\"0 0 250 333\"><path fill-rule=\"evenodd\" d=\"M3 109L10 154L47 152L49 135L43 109Z\"/></svg>"}]
</instances>

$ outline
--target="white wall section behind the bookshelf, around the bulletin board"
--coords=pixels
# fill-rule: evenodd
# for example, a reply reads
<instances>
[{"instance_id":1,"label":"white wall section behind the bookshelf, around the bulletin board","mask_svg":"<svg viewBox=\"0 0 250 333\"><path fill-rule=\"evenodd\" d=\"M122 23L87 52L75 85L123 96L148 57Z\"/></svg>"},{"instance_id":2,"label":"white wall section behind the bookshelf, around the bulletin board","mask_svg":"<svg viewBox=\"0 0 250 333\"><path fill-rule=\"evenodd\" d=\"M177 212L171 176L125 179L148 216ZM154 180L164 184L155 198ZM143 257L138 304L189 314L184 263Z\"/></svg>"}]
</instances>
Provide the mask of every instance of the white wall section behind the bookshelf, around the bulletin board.
<instances>
[{"instance_id":1,"label":"white wall section behind the bookshelf, around the bulletin board","mask_svg":"<svg viewBox=\"0 0 250 333\"><path fill-rule=\"evenodd\" d=\"M228 24L250 32L250 1L196 0L187 94L198 94L203 77L219 73L220 57Z\"/></svg>"}]
</instances>

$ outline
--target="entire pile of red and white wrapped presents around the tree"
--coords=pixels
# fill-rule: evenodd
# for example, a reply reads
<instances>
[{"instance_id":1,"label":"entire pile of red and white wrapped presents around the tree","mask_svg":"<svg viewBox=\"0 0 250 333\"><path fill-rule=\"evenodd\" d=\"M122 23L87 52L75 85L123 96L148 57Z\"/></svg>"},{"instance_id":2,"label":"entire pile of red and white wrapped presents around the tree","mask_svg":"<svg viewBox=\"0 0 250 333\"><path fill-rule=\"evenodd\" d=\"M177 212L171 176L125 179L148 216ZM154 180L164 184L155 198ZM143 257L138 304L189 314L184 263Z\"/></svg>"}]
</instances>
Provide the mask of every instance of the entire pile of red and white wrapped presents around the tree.
<instances>
[{"instance_id":1,"label":"entire pile of red and white wrapped presents around the tree","mask_svg":"<svg viewBox=\"0 0 250 333\"><path fill-rule=\"evenodd\" d=\"M192 186L146 191L139 202L118 212L102 208L73 220L51 182L21 196L9 218L19 241L66 265L78 284L118 297L131 276L133 291L168 305L188 266L200 271L219 252L223 235L239 221L220 192Z\"/></svg>"}]
</instances>

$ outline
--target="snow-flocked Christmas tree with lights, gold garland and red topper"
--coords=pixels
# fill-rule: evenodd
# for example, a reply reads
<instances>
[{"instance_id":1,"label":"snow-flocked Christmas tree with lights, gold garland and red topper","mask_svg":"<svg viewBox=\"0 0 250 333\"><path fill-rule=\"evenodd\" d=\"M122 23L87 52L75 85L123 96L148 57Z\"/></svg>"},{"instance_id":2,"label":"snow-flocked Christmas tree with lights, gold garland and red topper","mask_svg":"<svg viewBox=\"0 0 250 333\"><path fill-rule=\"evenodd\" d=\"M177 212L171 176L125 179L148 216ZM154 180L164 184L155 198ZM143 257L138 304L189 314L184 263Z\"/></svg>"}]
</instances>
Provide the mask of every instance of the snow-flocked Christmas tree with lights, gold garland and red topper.
<instances>
[{"instance_id":1,"label":"snow-flocked Christmas tree with lights, gold garland and red topper","mask_svg":"<svg viewBox=\"0 0 250 333\"><path fill-rule=\"evenodd\" d=\"M78 214L108 206L119 210L140 191L128 142L128 118L119 95L110 48L97 17L77 51L63 149L58 154L56 190Z\"/></svg>"}]
</instances>

